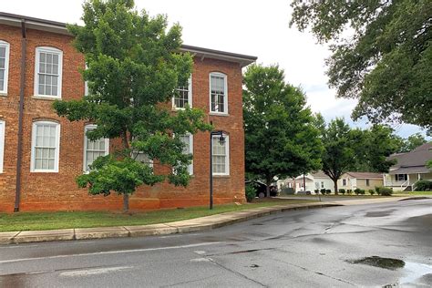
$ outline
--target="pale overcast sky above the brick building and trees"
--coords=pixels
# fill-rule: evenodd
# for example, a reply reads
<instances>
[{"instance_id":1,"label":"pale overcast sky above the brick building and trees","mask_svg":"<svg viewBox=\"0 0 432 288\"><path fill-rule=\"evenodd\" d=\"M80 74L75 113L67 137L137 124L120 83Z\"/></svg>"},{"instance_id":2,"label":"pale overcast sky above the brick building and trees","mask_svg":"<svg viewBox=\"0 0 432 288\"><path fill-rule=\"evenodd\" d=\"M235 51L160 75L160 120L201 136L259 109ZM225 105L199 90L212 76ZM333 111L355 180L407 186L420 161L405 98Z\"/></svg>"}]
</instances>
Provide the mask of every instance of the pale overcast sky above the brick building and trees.
<instances>
[{"instance_id":1,"label":"pale overcast sky above the brick building and trees","mask_svg":"<svg viewBox=\"0 0 432 288\"><path fill-rule=\"evenodd\" d=\"M81 23L82 0L2 1L0 11L67 23ZM353 127L367 127L365 119L350 118L355 99L335 98L327 86L326 57L330 52L309 32L289 27L289 0L135 0L149 15L168 15L183 27L183 43L258 57L263 65L279 64L288 83L302 87L307 103L328 121L344 117ZM422 132L417 126L394 124L404 138Z\"/></svg>"}]
</instances>

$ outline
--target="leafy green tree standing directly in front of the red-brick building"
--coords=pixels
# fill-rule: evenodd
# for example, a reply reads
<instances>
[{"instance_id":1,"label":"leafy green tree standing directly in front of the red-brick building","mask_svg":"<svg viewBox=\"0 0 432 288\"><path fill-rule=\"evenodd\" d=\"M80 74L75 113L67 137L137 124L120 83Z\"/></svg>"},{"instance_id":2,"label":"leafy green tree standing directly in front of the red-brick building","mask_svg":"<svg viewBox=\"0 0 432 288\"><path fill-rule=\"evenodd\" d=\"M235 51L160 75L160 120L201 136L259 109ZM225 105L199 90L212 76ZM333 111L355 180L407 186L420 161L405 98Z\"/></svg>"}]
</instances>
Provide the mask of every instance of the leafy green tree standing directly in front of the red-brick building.
<instances>
[{"instance_id":1,"label":"leafy green tree standing directly in front of the red-brick building","mask_svg":"<svg viewBox=\"0 0 432 288\"><path fill-rule=\"evenodd\" d=\"M122 194L125 211L129 194L140 185L165 180L188 185L191 156L182 153L184 144L172 136L211 129L201 110L171 114L166 105L175 88L187 83L192 67L189 54L176 53L180 26L167 29L166 16L150 17L133 6L132 0L85 2L85 26L67 29L86 59L82 75L90 93L54 103L59 116L97 124L87 132L89 139L121 139L118 150L96 159L88 174L77 176L77 183L91 194ZM171 167L170 173L155 174L148 163L137 160L139 154Z\"/></svg>"}]
</instances>

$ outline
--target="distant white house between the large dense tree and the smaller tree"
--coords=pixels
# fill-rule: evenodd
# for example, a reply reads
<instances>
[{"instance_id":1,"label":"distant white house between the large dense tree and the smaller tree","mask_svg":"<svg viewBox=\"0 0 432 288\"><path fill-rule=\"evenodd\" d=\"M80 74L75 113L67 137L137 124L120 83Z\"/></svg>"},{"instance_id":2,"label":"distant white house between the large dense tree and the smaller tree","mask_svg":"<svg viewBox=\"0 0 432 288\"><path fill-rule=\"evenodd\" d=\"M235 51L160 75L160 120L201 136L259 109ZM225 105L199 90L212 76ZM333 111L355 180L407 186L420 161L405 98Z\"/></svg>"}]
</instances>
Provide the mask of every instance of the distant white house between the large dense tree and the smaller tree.
<instances>
[{"instance_id":1,"label":"distant white house between the large dense tree and the smaller tree","mask_svg":"<svg viewBox=\"0 0 432 288\"><path fill-rule=\"evenodd\" d=\"M304 182L306 187L304 187ZM285 180L278 181L278 188L282 190L283 188L292 188L296 193L298 191L311 191L314 193L314 190L331 190L334 192L334 183L333 180L330 179L327 175L324 174L323 171L319 170L315 173L310 173L304 175L300 175L294 179L287 178Z\"/></svg>"}]
</instances>

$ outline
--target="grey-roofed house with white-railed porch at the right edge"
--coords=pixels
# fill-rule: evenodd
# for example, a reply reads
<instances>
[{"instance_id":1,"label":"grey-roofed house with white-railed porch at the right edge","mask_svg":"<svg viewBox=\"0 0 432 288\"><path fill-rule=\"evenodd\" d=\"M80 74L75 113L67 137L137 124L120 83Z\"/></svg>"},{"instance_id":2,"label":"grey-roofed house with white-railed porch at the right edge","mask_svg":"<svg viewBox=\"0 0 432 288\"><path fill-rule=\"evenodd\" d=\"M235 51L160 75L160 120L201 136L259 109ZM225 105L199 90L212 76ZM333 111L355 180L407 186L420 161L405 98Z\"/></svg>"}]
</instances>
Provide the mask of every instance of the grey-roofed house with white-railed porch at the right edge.
<instances>
[{"instance_id":1,"label":"grey-roofed house with white-railed porch at the right edge","mask_svg":"<svg viewBox=\"0 0 432 288\"><path fill-rule=\"evenodd\" d=\"M397 162L384 175L386 187L412 190L417 180L432 180L432 171L426 166L426 162L432 159L432 142L410 152L391 155L388 159L396 159Z\"/></svg>"}]
</instances>

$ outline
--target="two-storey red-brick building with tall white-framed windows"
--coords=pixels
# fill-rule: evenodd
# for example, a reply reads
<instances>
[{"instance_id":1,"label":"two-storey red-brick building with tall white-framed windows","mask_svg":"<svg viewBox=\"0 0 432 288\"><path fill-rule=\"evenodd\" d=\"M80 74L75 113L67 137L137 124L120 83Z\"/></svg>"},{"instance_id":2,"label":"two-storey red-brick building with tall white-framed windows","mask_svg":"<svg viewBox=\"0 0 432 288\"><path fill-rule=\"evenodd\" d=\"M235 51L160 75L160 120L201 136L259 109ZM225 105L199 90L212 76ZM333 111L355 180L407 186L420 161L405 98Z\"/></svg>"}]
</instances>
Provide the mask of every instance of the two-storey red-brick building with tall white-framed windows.
<instances>
[{"instance_id":1,"label":"two-storey red-brick building with tall white-framed windows","mask_svg":"<svg viewBox=\"0 0 432 288\"><path fill-rule=\"evenodd\" d=\"M118 210L122 198L90 196L75 178L117 139L90 141L90 123L69 122L52 108L55 99L86 93L78 72L84 57L71 45L66 25L0 13L0 211ZM244 201L242 67L256 57L182 46L194 57L189 87L179 87L172 108L202 108L225 143L213 141L214 202ZM193 155L187 188L162 183L141 187L130 209L204 205L209 201L210 134L183 137ZM168 168L170 169L170 168ZM154 164L155 173L167 170Z\"/></svg>"}]
</instances>

